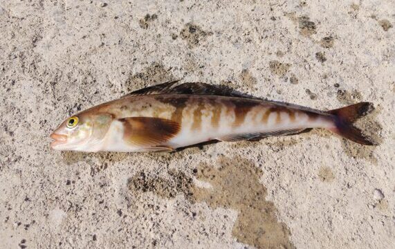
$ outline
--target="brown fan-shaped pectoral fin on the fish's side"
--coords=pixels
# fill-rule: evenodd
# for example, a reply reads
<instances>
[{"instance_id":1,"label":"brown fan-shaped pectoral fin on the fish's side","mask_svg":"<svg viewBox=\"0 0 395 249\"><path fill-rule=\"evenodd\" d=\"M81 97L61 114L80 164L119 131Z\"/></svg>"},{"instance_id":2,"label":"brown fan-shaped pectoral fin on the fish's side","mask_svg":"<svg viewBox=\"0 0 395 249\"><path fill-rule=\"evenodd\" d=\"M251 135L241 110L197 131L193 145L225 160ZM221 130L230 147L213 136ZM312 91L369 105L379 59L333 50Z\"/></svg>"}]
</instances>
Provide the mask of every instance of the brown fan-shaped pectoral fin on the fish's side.
<instances>
[{"instance_id":1,"label":"brown fan-shaped pectoral fin on the fish's side","mask_svg":"<svg viewBox=\"0 0 395 249\"><path fill-rule=\"evenodd\" d=\"M180 124L164 118L122 118L124 140L142 148L167 150L166 144L180 131Z\"/></svg>"}]
</instances>

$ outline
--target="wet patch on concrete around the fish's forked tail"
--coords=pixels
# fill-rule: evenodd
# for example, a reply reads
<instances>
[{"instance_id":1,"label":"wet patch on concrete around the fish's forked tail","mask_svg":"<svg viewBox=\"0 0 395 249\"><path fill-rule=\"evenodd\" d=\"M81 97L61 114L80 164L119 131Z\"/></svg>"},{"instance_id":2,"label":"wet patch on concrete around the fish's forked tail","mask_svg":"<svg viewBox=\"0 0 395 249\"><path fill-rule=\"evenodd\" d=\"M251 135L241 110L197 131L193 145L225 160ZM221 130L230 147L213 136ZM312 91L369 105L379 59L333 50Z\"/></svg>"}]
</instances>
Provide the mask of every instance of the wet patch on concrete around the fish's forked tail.
<instances>
[{"instance_id":1,"label":"wet patch on concrete around the fish's forked tail","mask_svg":"<svg viewBox=\"0 0 395 249\"><path fill-rule=\"evenodd\" d=\"M347 106L349 104L356 104L362 101L362 95L356 90L339 90L337 93L337 98L339 102L342 103L344 106ZM380 108L375 108L374 111L369 113L367 116L360 118L360 120L357 120L357 122L355 122L356 127L361 129L364 134L372 138L378 144L383 141L383 138L381 138L380 136L383 127L379 122L376 121L376 117L378 116L379 112ZM342 148L346 152L346 154L351 156L352 158L362 158L368 160L374 165L377 164L377 159L374 156L374 150L376 149L376 146L359 145L356 142L352 142L343 138Z\"/></svg>"}]
</instances>

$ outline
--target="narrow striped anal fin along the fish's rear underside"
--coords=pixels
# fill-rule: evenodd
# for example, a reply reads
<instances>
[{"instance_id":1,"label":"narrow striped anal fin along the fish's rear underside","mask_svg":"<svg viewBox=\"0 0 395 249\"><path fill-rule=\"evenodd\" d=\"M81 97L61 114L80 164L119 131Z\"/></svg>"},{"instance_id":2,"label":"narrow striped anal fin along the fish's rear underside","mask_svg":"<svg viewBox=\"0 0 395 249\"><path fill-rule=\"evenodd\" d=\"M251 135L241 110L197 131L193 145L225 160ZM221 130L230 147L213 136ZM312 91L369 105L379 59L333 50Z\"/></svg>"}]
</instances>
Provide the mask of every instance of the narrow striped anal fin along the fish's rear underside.
<instances>
[{"instance_id":1,"label":"narrow striped anal fin along the fish's rear underside","mask_svg":"<svg viewBox=\"0 0 395 249\"><path fill-rule=\"evenodd\" d=\"M223 136L223 137L217 138L217 139L224 141L224 142L235 142L235 141L240 141L240 140L256 141L256 140L260 140L262 138L268 138L270 136L286 136L286 135L291 135L291 134L295 134L295 133L300 133L302 131L304 131L304 128L266 131L266 132L259 132L259 133L237 133L237 134L232 134L232 135L228 135L228 136Z\"/></svg>"}]
</instances>

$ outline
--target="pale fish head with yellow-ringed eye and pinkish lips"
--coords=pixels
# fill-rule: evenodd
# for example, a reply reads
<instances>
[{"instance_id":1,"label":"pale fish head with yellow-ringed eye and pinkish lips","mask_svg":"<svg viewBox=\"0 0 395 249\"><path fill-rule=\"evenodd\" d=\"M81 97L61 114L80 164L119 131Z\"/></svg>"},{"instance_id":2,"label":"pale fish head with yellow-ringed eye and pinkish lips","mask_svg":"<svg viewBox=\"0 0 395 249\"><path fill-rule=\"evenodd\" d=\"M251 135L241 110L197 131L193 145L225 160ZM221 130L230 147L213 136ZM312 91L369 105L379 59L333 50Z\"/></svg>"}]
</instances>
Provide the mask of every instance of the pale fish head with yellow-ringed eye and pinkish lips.
<instances>
[{"instance_id":1,"label":"pale fish head with yellow-ringed eye and pinkish lips","mask_svg":"<svg viewBox=\"0 0 395 249\"><path fill-rule=\"evenodd\" d=\"M67 151L98 151L113 116L109 113L78 113L62 122L50 134L50 147Z\"/></svg>"}]
</instances>

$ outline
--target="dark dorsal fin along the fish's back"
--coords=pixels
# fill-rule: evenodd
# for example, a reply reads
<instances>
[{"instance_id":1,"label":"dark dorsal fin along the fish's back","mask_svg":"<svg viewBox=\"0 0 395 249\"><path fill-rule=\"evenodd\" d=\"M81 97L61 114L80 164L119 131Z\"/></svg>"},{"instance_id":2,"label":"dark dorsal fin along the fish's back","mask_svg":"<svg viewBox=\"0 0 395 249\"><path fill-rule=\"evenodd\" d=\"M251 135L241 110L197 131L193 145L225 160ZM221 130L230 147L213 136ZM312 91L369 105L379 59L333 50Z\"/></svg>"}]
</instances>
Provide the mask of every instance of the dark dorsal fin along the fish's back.
<instances>
[{"instance_id":1,"label":"dark dorsal fin along the fish's back","mask_svg":"<svg viewBox=\"0 0 395 249\"><path fill-rule=\"evenodd\" d=\"M175 84L179 80L172 82L165 82L163 84L157 84L155 86L149 86L145 89L140 89L131 92L122 98L137 96L137 95L156 95L156 94L191 94L191 95L218 95L218 96L229 96L238 98L256 98L252 95L240 93L231 89L228 86L223 85L211 85L201 82L187 82L176 86Z\"/></svg>"}]
</instances>

